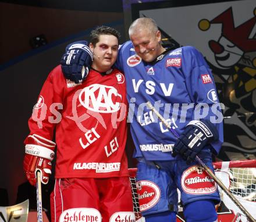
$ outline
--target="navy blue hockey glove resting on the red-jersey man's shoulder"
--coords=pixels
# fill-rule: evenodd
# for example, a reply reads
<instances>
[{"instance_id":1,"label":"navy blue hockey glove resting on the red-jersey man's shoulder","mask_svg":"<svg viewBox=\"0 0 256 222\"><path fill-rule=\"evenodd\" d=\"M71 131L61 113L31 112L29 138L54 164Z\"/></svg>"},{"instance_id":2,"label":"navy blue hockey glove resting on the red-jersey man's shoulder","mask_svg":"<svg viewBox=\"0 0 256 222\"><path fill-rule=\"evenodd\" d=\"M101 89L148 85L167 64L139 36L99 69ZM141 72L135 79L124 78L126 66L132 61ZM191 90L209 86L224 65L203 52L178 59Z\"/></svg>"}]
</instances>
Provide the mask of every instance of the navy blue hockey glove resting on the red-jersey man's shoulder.
<instances>
[{"instance_id":1,"label":"navy blue hockey glove resting on the red-jersey man's shoulder","mask_svg":"<svg viewBox=\"0 0 256 222\"><path fill-rule=\"evenodd\" d=\"M61 68L68 80L81 83L87 77L91 63L93 63L93 53L87 46L87 41L78 41L67 45L61 59Z\"/></svg>"}]
</instances>

